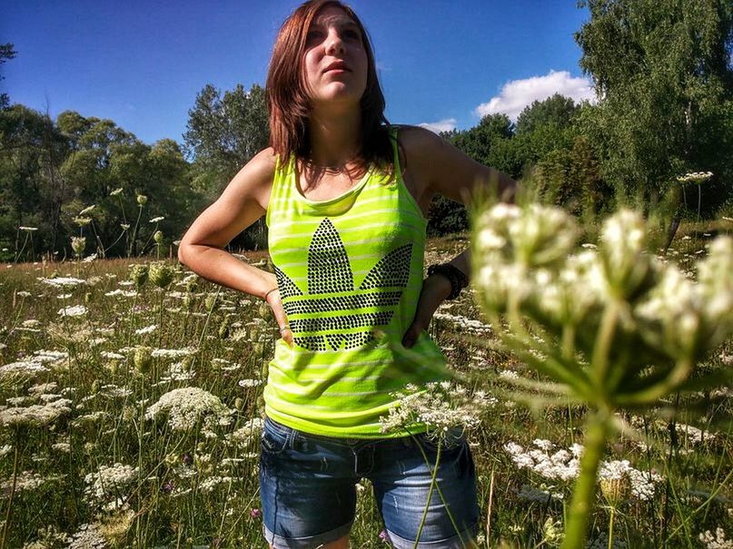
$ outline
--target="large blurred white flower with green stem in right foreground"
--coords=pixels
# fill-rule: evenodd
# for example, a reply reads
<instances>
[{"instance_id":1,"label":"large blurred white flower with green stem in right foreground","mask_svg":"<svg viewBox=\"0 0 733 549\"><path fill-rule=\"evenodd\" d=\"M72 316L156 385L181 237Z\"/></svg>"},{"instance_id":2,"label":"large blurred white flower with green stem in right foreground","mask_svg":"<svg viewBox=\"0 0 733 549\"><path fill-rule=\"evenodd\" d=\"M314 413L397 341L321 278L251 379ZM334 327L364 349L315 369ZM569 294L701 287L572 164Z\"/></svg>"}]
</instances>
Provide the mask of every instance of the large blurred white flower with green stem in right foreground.
<instances>
[{"instance_id":1,"label":"large blurred white flower with green stem in right foreground","mask_svg":"<svg viewBox=\"0 0 733 549\"><path fill-rule=\"evenodd\" d=\"M646 251L636 212L610 217L597 249L576 251L578 234L560 209L499 204L478 214L472 256L480 303L501 343L551 382L503 380L589 407L566 549L584 544L614 410L683 389L733 331L730 238L712 242L696 283Z\"/></svg>"}]
</instances>

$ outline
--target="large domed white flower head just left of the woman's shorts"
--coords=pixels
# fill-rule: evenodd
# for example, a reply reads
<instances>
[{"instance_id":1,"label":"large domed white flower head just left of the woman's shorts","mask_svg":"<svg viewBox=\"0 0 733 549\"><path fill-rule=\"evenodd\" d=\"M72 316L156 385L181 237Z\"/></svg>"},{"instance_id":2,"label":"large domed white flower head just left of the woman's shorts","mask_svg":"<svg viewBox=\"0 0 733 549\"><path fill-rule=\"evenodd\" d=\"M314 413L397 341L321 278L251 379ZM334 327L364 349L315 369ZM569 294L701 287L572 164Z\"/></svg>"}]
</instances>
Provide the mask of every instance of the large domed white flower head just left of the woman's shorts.
<instances>
[{"instance_id":1,"label":"large domed white flower head just left of the woman's shorts","mask_svg":"<svg viewBox=\"0 0 733 549\"><path fill-rule=\"evenodd\" d=\"M165 393L145 411L146 419L168 416L174 431L187 431L203 421L204 435L215 436L217 426L231 423L233 410L224 406L219 397L199 387L184 387Z\"/></svg>"}]
</instances>

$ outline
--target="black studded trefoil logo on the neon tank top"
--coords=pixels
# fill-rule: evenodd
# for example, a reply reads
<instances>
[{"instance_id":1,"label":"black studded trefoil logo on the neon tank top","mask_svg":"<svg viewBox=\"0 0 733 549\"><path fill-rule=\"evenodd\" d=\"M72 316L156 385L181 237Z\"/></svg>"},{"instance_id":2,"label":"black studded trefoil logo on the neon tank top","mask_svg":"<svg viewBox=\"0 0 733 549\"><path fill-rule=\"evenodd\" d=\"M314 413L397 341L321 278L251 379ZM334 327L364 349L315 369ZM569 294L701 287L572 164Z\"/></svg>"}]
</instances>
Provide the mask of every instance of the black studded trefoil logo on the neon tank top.
<instances>
[{"instance_id":1,"label":"black studded trefoil logo on the neon tank top","mask_svg":"<svg viewBox=\"0 0 733 549\"><path fill-rule=\"evenodd\" d=\"M295 343L325 351L360 347L373 340L371 329L390 323L407 287L411 255L412 244L391 250L354 288L341 236L331 220L324 219L308 248L307 291L274 268Z\"/></svg>"}]
</instances>

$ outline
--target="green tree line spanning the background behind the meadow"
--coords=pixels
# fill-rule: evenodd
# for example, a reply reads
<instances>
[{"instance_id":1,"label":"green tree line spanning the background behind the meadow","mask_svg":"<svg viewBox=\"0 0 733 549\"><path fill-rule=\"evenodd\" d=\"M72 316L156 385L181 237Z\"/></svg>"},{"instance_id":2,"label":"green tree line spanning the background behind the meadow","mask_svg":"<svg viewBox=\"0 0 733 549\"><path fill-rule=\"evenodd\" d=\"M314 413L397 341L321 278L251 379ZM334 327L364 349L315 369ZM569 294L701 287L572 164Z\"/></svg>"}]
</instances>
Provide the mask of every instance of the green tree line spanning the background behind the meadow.
<instances>
[{"instance_id":1,"label":"green tree line spanning the background behind the meadow","mask_svg":"<svg viewBox=\"0 0 733 549\"><path fill-rule=\"evenodd\" d=\"M490 114L443 137L521 179L546 202L587 218L633 203L678 222L733 213L733 5L726 0L583 0L575 34L597 101L556 94L516 122ZM0 64L15 57L0 45ZM0 259L40 252L135 255L180 238L196 213L267 146L264 90L197 94L183 143L145 144L114 121L67 111L55 120L0 97ZM690 172L709 172L703 197ZM144 197L144 198L139 198ZM685 200L688 199L688 200ZM142 202L142 203L141 203ZM160 219L163 218L163 219ZM159 221L155 221L159 220ZM432 204L432 234L467 227L464 209ZM23 229L22 229L23 228ZM161 240L161 237L163 240ZM262 247L262 222L234 247ZM23 250L23 253L20 253Z\"/></svg>"}]
</instances>

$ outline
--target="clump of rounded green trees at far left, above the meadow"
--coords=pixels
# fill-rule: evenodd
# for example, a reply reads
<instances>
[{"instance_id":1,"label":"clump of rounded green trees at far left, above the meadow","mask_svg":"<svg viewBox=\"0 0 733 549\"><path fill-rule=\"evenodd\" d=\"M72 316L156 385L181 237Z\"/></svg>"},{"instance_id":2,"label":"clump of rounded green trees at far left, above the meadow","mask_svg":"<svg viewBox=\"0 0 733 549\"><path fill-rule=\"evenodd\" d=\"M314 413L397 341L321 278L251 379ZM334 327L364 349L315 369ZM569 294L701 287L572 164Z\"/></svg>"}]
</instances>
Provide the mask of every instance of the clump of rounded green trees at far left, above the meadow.
<instances>
[{"instance_id":1,"label":"clump of rounded green trees at far left, above the meadow","mask_svg":"<svg viewBox=\"0 0 733 549\"><path fill-rule=\"evenodd\" d=\"M150 249L158 229L170 244L199 207L176 142L149 146L113 121L71 111L56 123L19 104L0 111L0 175L0 246L20 250L18 228L37 229L33 247L15 260L33 260L37 251L70 257L75 234L90 236L87 251L100 256ZM133 225L128 215L142 214L137 194L150 202L133 234L123 226ZM164 219L149 224L154 217ZM138 239L143 246L135 248Z\"/></svg>"}]
</instances>

